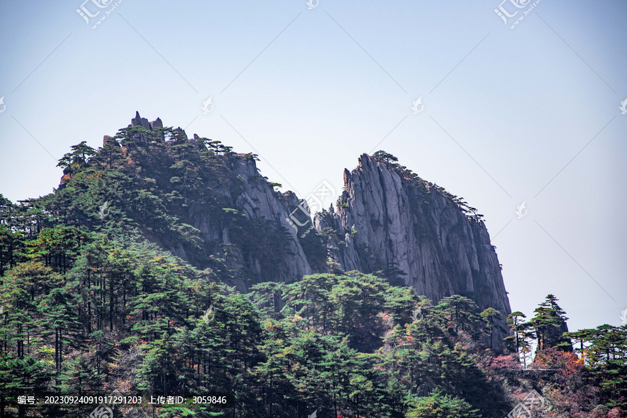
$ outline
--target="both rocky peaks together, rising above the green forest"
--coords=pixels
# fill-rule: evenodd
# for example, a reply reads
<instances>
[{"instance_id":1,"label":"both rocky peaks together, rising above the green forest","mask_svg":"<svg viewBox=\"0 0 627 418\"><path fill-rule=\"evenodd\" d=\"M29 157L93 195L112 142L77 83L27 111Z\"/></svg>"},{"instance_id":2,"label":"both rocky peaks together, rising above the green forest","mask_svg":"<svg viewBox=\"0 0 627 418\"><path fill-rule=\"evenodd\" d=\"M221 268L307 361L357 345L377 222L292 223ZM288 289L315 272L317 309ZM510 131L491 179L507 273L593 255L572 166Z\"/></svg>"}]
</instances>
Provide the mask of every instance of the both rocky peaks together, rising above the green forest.
<instances>
[{"instance_id":1,"label":"both rocky peaks together, rising above the green forest","mask_svg":"<svg viewBox=\"0 0 627 418\"><path fill-rule=\"evenodd\" d=\"M364 154L357 169L345 170L345 191L336 210L316 215L316 234L309 233L307 213L297 210L297 196L275 191L254 155L196 134L188 139L159 118L149 122L137 113L116 137L104 137L98 152L95 161L107 155L103 164L134 179L128 188L143 190L114 205L126 207L148 240L197 267L225 272L240 291L329 272L328 261L334 271L382 270L434 302L458 294L481 309L511 311L483 222L456 196L394 162ZM66 168L61 186L75 181L77 167ZM138 212L131 202L144 205L142 196L155 206ZM506 333L499 325L497 339Z\"/></svg>"}]
</instances>

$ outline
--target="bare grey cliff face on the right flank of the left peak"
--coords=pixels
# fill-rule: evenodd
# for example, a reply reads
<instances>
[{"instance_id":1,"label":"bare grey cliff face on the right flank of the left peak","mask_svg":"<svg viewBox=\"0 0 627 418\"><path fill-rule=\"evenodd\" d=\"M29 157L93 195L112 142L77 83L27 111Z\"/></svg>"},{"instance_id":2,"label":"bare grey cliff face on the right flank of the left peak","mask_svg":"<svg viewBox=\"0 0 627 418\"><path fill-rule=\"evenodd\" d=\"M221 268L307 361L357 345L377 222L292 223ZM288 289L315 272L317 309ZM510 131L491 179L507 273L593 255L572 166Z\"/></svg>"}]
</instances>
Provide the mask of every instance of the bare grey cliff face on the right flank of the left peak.
<instances>
[{"instance_id":1,"label":"bare grey cliff face on the right flank of the left peak","mask_svg":"<svg viewBox=\"0 0 627 418\"><path fill-rule=\"evenodd\" d=\"M137 113L130 126L138 125L146 130L163 126L159 118L149 123L146 118L141 118ZM187 137L187 134L182 132ZM140 137L144 139L144 135ZM193 139L189 141L196 149L204 150L205 145L197 134L194 134ZM289 208L300 203L297 196L293 192L276 192L272 184L261 176L256 167L256 161L251 155L227 154L223 157L226 160L228 178L231 181L209 183L212 194L217 200L223 202L222 210L234 208L238 211L238 215L242 215L247 221L252 221L245 223L244 229L246 226L260 226L261 228L241 231L242 224L235 224L234 227L240 229L239 239L237 239L233 238L231 222L226 222L224 217L216 217L215 212L203 210L201 205L190 205L188 215L192 226L201 231L206 245L214 252L222 251L229 268L249 273L248 276L251 279L235 277L233 284L240 291L248 291L250 284L254 281L291 282L313 272L324 272L325 268L312 270L310 263L312 265L314 263L307 260L296 231L287 228L288 224L285 219L289 217ZM234 183L238 187L233 187ZM263 242L266 244L273 242L272 238L282 238L281 235L284 233L289 234L289 239L281 240L284 247L279 251L272 251L277 248L263 248L263 245L249 245L252 242L260 242L260 237L254 235L262 231L267 235L263 237ZM181 254L181 249L171 248L171 251L185 258L184 252Z\"/></svg>"}]
</instances>

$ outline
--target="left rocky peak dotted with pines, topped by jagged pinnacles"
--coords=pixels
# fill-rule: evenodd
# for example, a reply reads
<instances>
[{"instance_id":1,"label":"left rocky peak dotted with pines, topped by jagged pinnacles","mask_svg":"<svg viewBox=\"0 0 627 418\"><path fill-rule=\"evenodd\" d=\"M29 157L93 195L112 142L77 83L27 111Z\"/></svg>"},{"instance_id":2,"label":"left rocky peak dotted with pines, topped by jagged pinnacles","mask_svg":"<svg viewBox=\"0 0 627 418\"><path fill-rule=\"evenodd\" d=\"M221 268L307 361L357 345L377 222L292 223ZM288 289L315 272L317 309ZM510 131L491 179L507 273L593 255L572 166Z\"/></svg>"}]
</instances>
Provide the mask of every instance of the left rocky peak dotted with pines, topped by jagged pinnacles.
<instances>
[{"instance_id":1,"label":"left rocky peak dotted with pines, topped by jagged pinnacles","mask_svg":"<svg viewBox=\"0 0 627 418\"><path fill-rule=\"evenodd\" d=\"M113 155L114 163L107 160L107 165L132 178L129 189L143 189L128 202L112 203L132 226L192 265L220 272L238 290L328 272L324 261L307 258L297 231L286 222L299 199L275 191L259 173L254 155L233 153L197 134L188 137L180 127L164 127L160 118L149 122L139 112L115 137L105 136L98 152L94 162ZM89 166L72 164L68 170L78 173ZM76 178L66 177L62 187ZM152 200L152 210L138 213L137 201L146 196L160 203Z\"/></svg>"}]
</instances>

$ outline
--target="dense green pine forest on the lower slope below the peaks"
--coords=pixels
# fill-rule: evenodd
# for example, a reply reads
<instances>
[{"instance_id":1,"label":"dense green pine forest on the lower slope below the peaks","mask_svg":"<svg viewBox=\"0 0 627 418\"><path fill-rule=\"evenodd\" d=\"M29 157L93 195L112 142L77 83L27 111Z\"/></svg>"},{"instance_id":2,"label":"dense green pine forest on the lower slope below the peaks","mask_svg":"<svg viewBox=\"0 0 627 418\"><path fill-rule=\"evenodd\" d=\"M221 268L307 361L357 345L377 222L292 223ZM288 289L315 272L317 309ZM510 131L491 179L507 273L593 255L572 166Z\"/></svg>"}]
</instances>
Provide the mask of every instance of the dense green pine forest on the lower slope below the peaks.
<instances>
[{"instance_id":1,"label":"dense green pine forest on the lower slope below the peaks","mask_svg":"<svg viewBox=\"0 0 627 418\"><path fill-rule=\"evenodd\" d=\"M257 284L245 296L215 272L103 233L42 229L24 249L1 283L0 348L15 359L6 363L11 373L29 355L38 371L28 372L33 382L8 378L15 387L226 391L248 399L238 415L293 416L318 405L320 417L401 417L399 396L423 385L456 396L475 396L465 380L492 390L454 348L449 311L382 277L316 274ZM472 306L461 302L456 314L466 318ZM412 322L417 306L429 320ZM388 348L393 329L406 329L408 346ZM405 352L416 362L413 377L400 372L405 360L394 365Z\"/></svg>"}]
</instances>

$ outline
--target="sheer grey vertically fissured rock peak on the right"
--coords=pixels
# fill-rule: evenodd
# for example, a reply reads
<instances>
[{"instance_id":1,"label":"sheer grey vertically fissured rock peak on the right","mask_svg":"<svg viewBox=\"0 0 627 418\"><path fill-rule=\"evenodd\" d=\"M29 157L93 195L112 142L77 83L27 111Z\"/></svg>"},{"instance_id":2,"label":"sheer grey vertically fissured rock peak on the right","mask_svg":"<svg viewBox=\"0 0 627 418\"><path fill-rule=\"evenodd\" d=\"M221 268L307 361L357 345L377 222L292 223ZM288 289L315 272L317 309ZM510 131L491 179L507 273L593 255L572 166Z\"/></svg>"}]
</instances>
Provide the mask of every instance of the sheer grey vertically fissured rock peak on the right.
<instances>
[{"instance_id":1,"label":"sheer grey vertically fissured rock peak on the right","mask_svg":"<svg viewBox=\"0 0 627 418\"><path fill-rule=\"evenodd\" d=\"M343 270L400 269L406 275L396 274L399 280L434 302L450 295L470 297L481 310L501 312L493 341L506 336L504 318L511 308L481 220L467 217L436 187L403 178L366 154L357 169L344 171L344 189L336 212L314 220L318 231L337 231L328 243L332 261Z\"/></svg>"}]
</instances>

